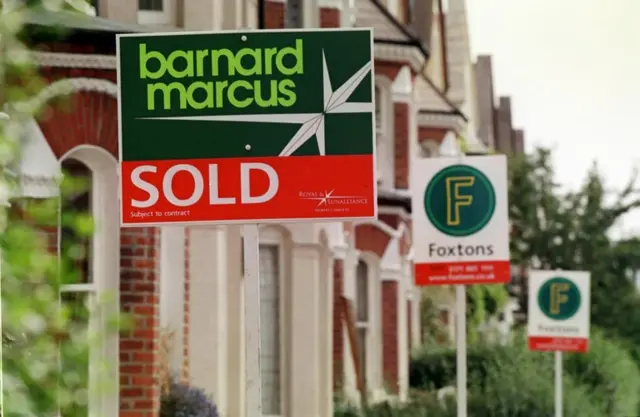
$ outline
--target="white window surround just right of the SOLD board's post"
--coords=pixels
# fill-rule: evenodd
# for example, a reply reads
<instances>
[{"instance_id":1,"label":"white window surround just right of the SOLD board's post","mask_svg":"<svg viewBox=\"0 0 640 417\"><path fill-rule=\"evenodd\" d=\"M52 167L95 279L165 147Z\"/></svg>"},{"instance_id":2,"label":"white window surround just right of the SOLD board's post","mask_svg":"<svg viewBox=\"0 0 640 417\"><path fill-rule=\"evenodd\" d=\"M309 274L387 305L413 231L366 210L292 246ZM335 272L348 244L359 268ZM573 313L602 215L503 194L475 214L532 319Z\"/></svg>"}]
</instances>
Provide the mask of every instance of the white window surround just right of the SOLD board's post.
<instances>
[{"instance_id":1,"label":"white window surround just right of the SOLD board's post","mask_svg":"<svg viewBox=\"0 0 640 417\"><path fill-rule=\"evenodd\" d=\"M258 245L258 250L260 246L273 246L277 248L278 251L278 290L279 290L279 333L280 333L280 414L264 414L264 417L282 417L285 413L285 404L287 398L287 380L286 380L286 372L287 372L287 361L286 361L286 340L288 339L288 329L287 329L287 321L286 321L286 291L287 287L287 272L286 268L286 246L284 244L284 236L283 234L276 228L267 227L260 230L260 243ZM261 375L262 377L262 375Z\"/></svg>"}]
</instances>

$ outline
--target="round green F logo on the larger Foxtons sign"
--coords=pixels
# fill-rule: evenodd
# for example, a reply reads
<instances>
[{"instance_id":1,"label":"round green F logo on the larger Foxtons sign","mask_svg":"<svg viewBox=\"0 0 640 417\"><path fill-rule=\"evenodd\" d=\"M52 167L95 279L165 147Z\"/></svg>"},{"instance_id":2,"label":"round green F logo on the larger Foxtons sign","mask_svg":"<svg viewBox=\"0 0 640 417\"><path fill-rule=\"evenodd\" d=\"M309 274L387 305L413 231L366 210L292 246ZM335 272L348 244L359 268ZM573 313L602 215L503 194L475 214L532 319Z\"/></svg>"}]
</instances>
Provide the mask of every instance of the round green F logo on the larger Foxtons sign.
<instances>
[{"instance_id":1,"label":"round green F logo on the larger Foxtons sign","mask_svg":"<svg viewBox=\"0 0 640 417\"><path fill-rule=\"evenodd\" d=\"M496 208L489 179L468 165L452 165L427 185L424 209L431 224L449 236L469 236L482 230Z\"/></svg>"}]
</instances>

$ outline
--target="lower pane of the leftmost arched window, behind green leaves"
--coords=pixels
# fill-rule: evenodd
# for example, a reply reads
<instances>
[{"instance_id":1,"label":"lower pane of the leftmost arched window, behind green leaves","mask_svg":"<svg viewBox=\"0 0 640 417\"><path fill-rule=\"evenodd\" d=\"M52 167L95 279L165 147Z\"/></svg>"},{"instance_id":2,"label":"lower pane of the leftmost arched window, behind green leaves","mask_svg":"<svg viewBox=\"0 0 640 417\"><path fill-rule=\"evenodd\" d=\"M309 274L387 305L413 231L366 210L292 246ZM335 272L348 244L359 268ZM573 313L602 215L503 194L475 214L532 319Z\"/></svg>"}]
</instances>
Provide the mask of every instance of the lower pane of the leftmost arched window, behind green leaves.
<instances>
[{"instance_id":1,"label":"lower pane of the leftmost arched window, behind green leaves","mask_svg":"<svg viewBox=\"0 0 640 417\"><path fill-rule=\"evenodd\" d=\"M63 417L89 415L89 346L86 337L90 296L86 292L64 292L60 297L70 313L69 333L60 342L60 385L73 395L74 400L62 408Z\"/></svg>"}]
</instances>

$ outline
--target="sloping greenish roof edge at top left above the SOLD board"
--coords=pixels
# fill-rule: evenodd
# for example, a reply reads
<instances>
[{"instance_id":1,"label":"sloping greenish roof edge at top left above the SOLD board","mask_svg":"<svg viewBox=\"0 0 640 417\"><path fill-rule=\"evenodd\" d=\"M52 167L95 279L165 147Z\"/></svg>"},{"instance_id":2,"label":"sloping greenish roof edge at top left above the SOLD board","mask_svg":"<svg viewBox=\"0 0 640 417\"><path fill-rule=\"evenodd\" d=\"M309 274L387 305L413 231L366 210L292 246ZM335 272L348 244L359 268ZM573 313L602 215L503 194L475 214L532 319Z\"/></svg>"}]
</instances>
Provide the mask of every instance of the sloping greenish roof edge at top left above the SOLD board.
<instances>
[{"instance_id":1,"label":"sloping greenish roof edge at top left above the SOLD board","mask_svg":"<svg viewBox=\"0 0 640 417\"><path fill-rule=\"evenodd\" d=\"M80 12L68 10L52 11L45 8L30 10L25 23L35 26L61 27L72 30L107 32L107 33L135 33L148 32L144 26L129 25L101 17L88 16Z\"/></svg>"}]
</instances>

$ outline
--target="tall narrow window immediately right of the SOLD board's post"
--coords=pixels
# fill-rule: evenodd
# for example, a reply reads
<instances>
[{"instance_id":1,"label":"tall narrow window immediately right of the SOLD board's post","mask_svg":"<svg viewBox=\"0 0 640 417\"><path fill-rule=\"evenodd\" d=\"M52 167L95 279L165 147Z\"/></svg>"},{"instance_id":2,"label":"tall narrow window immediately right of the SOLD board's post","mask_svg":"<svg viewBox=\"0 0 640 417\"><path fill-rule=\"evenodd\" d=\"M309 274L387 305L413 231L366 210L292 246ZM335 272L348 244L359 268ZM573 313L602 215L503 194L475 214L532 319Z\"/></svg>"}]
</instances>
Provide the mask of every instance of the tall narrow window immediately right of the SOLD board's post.
<instances>
[{"instance_id":1,"label":"tall narrow window immediately right of the SOLD board's post","mask_svg":"<svg viewBox=\"0 0 640 417\"><path fill-rule=\"evenodd\" d=\"M266 416L282 414L280 277L280 246L260 245L260 363L262 410Z\"/></svg>"}]
</instances>

